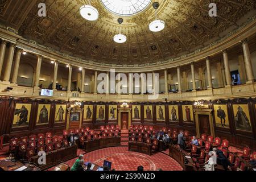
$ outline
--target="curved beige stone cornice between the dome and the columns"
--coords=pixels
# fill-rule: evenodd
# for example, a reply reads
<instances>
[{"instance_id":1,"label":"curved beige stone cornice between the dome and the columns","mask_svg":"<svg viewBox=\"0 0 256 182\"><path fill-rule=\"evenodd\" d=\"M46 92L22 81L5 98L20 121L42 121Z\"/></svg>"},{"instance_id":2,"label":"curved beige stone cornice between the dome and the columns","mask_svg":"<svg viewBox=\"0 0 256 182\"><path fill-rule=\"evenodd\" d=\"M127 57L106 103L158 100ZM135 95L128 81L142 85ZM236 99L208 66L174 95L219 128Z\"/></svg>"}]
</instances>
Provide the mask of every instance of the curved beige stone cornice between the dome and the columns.
<instances>
[{"instance_id":1,"label":"curved beige stone cornice between the dome and the columns","mask_svg":"<svg viewBox=\"0 0 256 182\"><path fill-rule=\"evenodd\" d=\"M14 34L13 32L0 29L0 37L9 42L16 43L16 47L22 48L27 52L34 53L36 55L42 55L48 59L58 60L60 63L76 65L77 67L84 67L86 69L98 70L108 72L110 69L115 69L117 72L151 72L156 70L175 68L181 65L187 65L191 61L199 61L205 59L205 57L216 55L222 50L227 49L256 32L256 20L252 17L247 23L243 24L237 30L230 32L224 38L217 40L209 46L198 49L194 53L176 57L175 59L169 59L166 61L159 61L154 64L142 64L142 65L116 65L97 63L90 60L81 60L77 57L65 55L64 53L57 52L52 48L39 45L33 40L26 40L21 36Z\"/></svg>"}]
</instances>

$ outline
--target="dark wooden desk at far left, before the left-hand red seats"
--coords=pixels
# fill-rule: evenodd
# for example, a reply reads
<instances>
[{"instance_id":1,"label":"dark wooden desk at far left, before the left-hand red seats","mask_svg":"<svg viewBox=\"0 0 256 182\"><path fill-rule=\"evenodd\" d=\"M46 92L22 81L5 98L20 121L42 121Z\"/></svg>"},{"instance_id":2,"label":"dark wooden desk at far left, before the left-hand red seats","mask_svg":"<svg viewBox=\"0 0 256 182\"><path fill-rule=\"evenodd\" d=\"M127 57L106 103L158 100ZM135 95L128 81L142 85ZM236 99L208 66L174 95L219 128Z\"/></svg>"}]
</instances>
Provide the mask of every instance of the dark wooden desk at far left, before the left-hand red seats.
<instances>
[{"instance_id":1,"label":"dark wooden desk at far left, before the left-hand red seats","mask_svg":"<svg viewBox=\"0 0 256 182\"><path fill-rule=\"evenodd\" d=\"M67 161L69 159L76 158L77 156L77 146L70 146L66 148L60 148L59 150L54 150L52 152L46 153L46 165L39 165L38 159L40 156L32 156L31 162L38 165L42 170L47 169L52 166L56 166L60 161Z\"/></svg>"}]
</instances>

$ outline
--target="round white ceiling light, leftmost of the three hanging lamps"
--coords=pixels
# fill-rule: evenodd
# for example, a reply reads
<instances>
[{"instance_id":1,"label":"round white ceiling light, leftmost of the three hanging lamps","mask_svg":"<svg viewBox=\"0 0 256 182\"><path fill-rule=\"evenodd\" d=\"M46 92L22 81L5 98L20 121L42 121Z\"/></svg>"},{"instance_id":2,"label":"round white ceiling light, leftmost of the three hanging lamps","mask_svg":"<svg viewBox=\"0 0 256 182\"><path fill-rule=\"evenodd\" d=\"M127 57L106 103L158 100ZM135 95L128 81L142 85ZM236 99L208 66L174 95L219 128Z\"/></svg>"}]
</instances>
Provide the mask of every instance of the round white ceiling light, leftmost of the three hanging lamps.
<instances>
[{"instance_id":1,"label":"round white ceiling light, leftmost of the three hanging lamps","mask_svg":"<svg viewBox=\"0 0 256 182\"><path fill-rule=\"evenodd\" d=\"M89 21L95 21L98 19L98 10L95 7L90 5L81 6L80 14L82 18Z\"/></svg>"}]
</instances>

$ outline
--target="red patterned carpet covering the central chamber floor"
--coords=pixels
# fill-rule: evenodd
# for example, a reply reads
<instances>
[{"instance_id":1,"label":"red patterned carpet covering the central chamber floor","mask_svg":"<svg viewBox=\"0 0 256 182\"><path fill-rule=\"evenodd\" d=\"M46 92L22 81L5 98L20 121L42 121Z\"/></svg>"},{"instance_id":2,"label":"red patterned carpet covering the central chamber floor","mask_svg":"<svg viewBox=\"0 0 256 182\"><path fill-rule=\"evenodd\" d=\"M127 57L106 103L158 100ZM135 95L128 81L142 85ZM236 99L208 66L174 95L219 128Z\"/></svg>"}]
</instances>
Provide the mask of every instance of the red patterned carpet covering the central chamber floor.
<instances>
[{"instance_id":1,"label":"red patterned carpet covering the central chamber floor","mask_svg":"<svg viewBox=\"0 0 256 182\"><path fill-rule=\"evenodd\" d=\"M71 159L66 163L72 166L76 159ZM149 156L138 152L129 152L127 147L109 147L92 151L84 154L84 160L99 166L102 166L104 160L108 160L112 162L112 169L117 171L136 171L137 167L141 165L145 171L154 171L159 168L164 171L182 170L179 163L162 152Z\"/></svg>"}]
</instances>

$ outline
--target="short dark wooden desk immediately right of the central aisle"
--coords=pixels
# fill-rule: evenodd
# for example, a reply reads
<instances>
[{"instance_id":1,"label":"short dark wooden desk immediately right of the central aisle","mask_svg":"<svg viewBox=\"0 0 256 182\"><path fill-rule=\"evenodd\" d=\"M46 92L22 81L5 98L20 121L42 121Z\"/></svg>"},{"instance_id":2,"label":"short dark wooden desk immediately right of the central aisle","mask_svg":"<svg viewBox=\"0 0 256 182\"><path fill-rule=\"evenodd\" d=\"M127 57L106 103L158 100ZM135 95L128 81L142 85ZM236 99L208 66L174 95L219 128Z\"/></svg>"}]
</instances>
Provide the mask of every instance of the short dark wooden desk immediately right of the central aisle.
<instances>
[{"instance_id":1,"label":"short dark wooden desk immediately right of the central aisle","mask_svg":"<svg viewBox=\"0 0 256 182\"><path fill-rule=\"evenodd\" d=\"M134 152L141 152L143 154L152 155L152 144L143 142L128 142L128 150Z\"/></svg>"}]
</instances>

